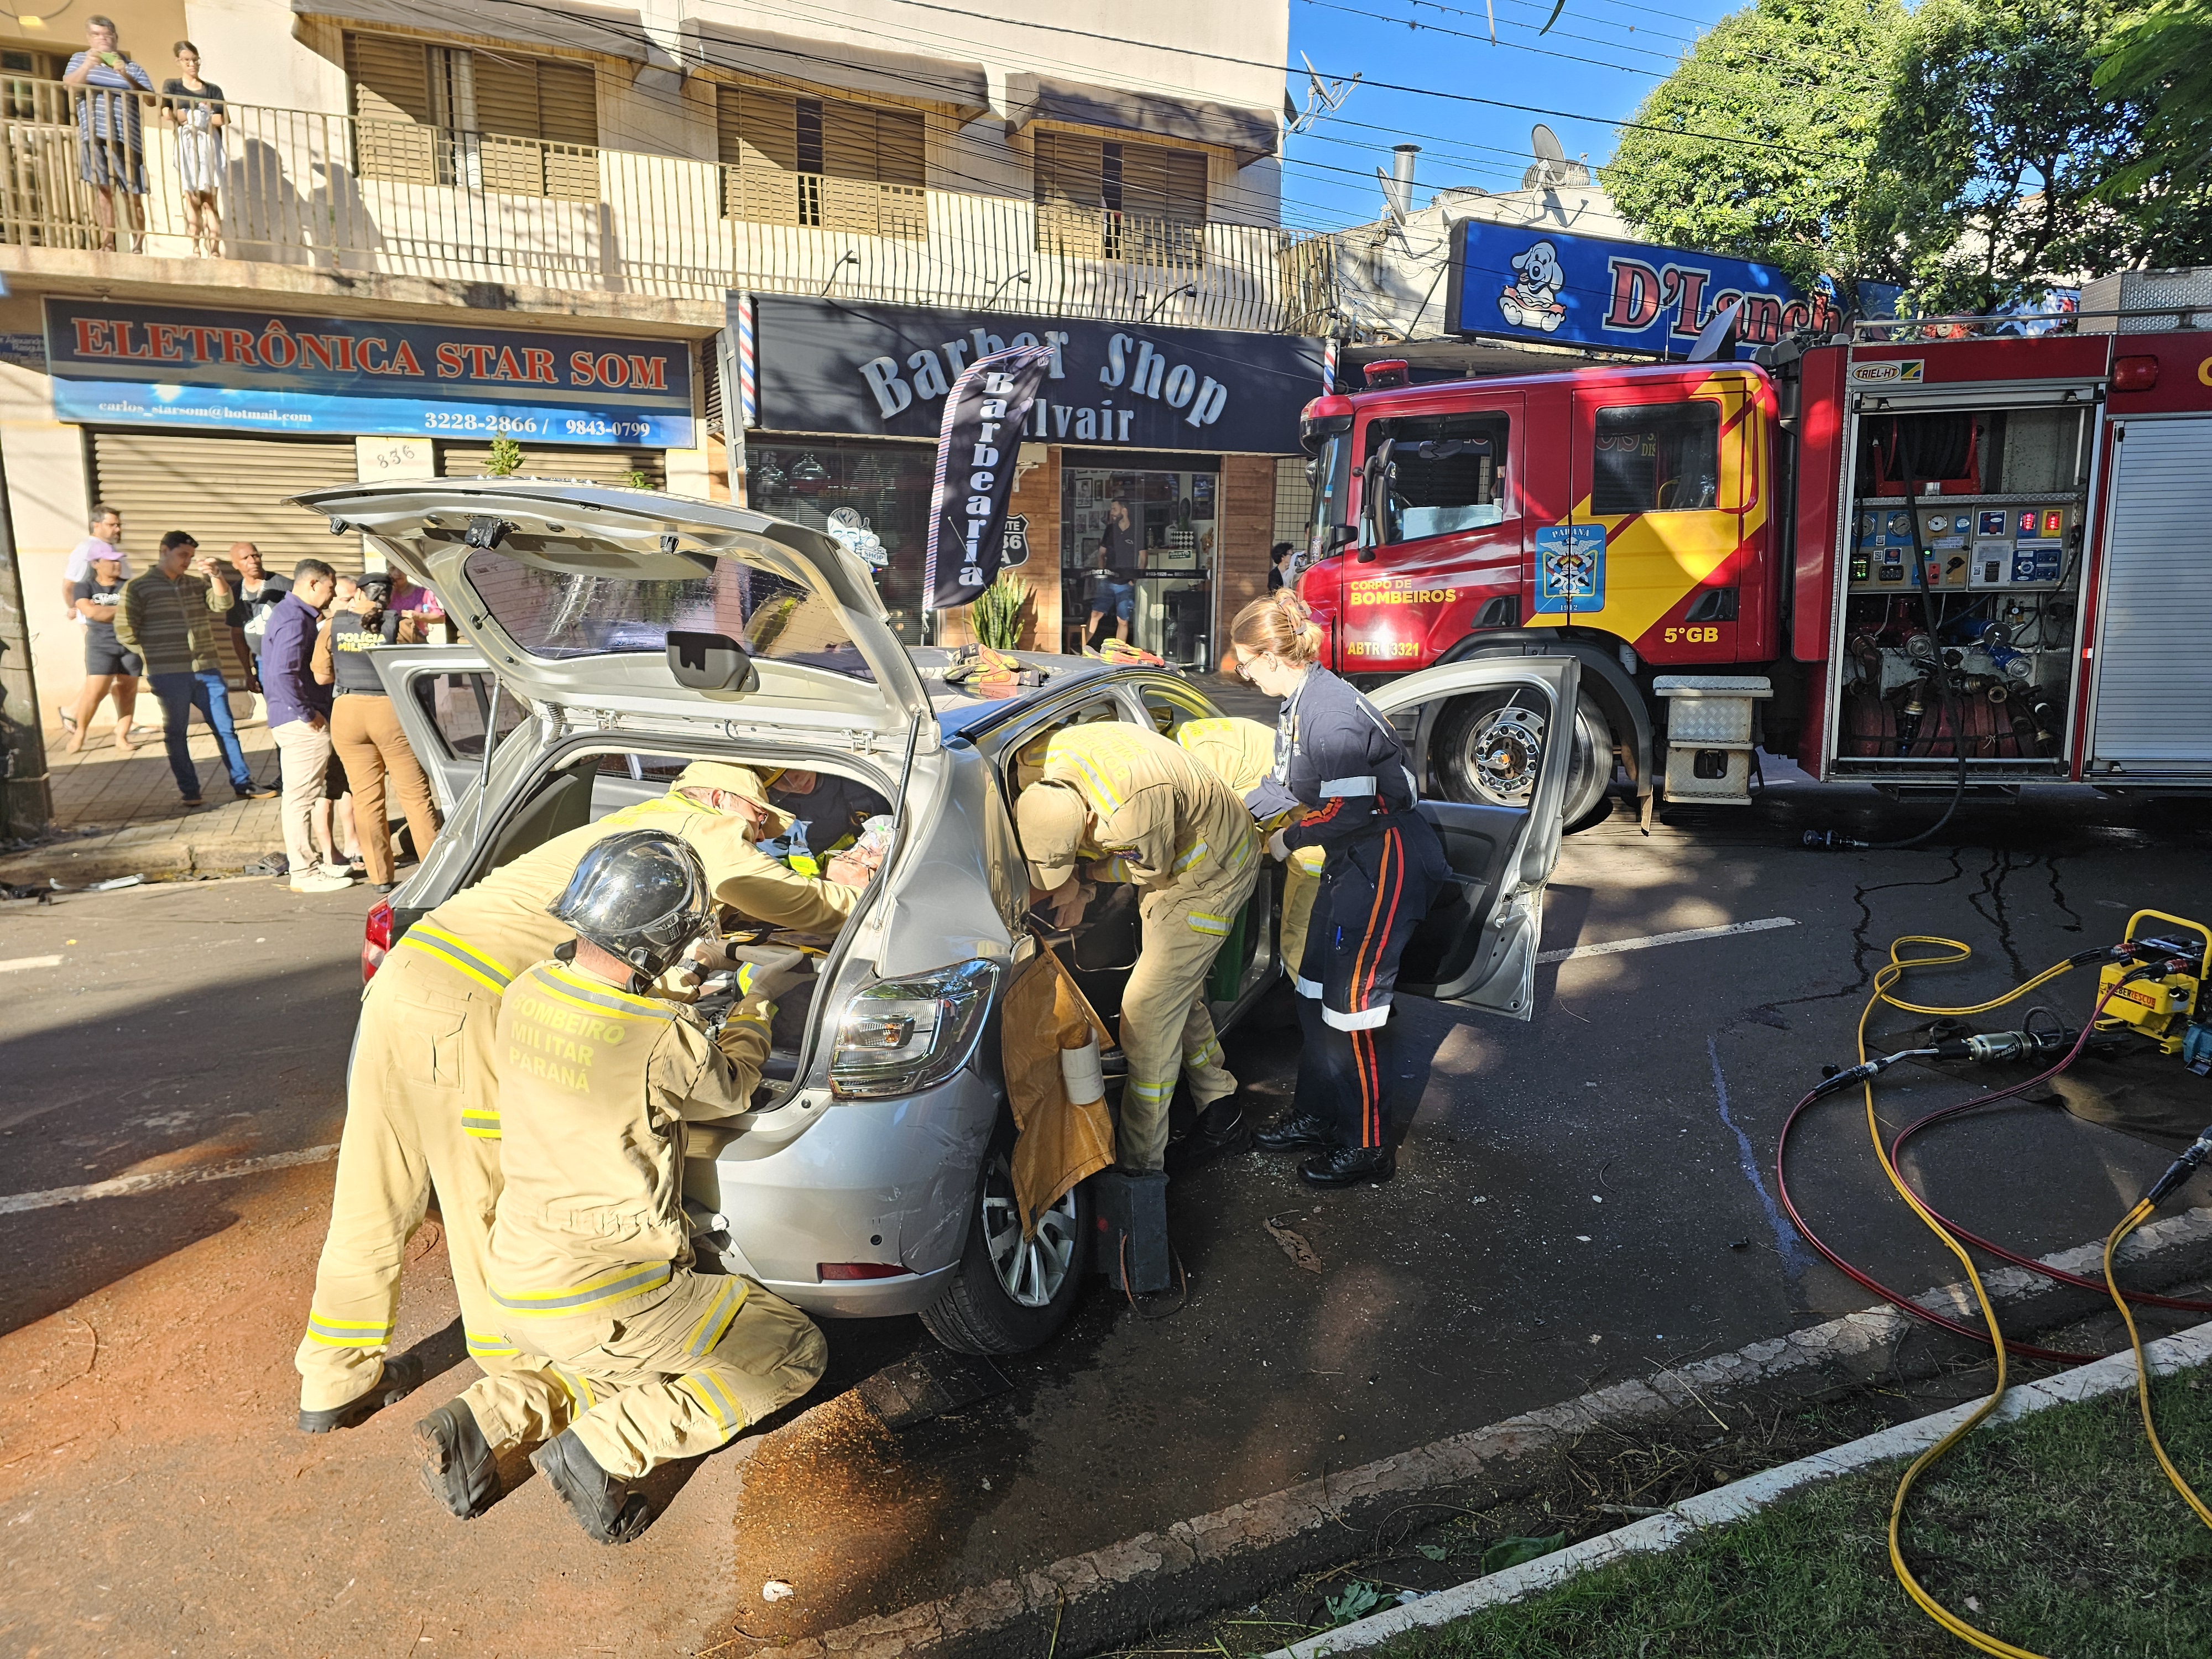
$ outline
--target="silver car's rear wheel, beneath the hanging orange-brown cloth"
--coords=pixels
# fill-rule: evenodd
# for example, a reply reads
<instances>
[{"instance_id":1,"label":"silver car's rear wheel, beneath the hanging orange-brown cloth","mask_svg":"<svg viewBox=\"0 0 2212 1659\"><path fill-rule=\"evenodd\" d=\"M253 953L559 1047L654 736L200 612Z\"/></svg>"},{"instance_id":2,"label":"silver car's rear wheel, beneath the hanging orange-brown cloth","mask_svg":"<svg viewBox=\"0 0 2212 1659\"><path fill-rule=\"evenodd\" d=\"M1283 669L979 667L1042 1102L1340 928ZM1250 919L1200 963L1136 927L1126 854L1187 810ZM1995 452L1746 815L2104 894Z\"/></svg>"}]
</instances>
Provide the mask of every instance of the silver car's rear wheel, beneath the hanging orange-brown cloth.
<instances>
[{"instance_id":1,"label":"silver car's rear wheel, beneath the hanging orange-brown cloth","mask_svg":"<svg viewBox=\"0 0 2212 1659\"><path fill-rule=\"evenodd\" d=\"M1013 1133L984 1155L967 1248L953 1283L922 1310L922 1325L958 1354L1026 1354L1048 1343L1082 1296L1091 1243L1091 1188L1062 1192L1022 1237L1013 1199Z\"/></svg>"}]
</instances>

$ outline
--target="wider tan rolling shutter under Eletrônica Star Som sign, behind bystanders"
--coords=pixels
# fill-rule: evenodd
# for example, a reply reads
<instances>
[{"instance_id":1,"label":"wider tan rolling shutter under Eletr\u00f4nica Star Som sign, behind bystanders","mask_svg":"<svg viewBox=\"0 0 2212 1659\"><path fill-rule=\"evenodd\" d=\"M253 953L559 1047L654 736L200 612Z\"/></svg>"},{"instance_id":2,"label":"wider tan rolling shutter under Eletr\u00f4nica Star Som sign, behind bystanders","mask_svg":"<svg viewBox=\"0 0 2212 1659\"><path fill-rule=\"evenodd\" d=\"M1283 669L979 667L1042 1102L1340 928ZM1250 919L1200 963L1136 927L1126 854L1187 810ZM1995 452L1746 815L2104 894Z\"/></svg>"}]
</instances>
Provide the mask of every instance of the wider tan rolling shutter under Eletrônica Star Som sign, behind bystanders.
<instances>
[{"instance_id":1,"label":"wider tan rolling shutter under Eletr\u00f4nica Star Som sign, behind bystanders","mask_svg":"<svg viewBox=\"0 0 2212 1659\"><path fill-rule=\"evenodd\" d=\"M122 509L133 571L150 571L168 531L190 531L204 553L252 542L276 575L301 560L361 568L361 538L288 495L358 480L354 440L204 438L175 431L95 431L95 500Z\"/></svg>"}]
</instances>

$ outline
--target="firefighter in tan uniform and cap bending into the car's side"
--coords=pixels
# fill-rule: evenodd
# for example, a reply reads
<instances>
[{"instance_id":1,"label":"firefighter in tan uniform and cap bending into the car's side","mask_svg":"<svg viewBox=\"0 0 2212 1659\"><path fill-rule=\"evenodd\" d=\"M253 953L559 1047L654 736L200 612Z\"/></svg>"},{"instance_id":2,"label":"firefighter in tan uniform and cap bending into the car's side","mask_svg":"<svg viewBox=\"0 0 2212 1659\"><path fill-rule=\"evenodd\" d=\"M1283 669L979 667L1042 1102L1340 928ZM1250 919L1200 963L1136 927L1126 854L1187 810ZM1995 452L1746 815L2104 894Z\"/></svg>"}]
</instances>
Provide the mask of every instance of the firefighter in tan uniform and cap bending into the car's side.
<instances>
[{"instance_id":1,"label":"firefighter in tan uniform and cap bending into the car's side","mask_svg":"<svg viewBox=\"0 0 2212 1659\"><path fill-rule=\"evenodd\" d=\"M1037 783L1015 803L1033 900L1051 900L1062 927L1082 916L1097 880L1144 889L1144 951L1121 991L1121 1095L1117 1157L1124 1170L1164 1168L1168 1099L1179 1073L1201 1108L1199 1135L1237 1137L1237 1079L1206 1011L1206 975L1259 878L1252 814L1230 787L1159 732L1099 721L1068 726L1044 745Z\"/></svg>"}]
</instances>

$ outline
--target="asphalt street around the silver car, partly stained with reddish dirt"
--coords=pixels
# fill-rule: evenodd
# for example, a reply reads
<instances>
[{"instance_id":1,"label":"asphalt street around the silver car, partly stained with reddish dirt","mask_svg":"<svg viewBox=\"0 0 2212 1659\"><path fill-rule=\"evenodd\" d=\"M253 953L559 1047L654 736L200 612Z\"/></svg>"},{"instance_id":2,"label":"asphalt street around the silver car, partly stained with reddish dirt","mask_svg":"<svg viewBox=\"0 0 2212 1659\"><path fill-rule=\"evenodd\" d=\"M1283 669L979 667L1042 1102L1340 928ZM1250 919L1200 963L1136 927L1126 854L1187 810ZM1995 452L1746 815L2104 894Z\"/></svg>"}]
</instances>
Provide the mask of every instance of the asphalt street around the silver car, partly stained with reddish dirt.
<instances>
[{"instance_id":1,"label":"asphalt street around the silver car, partly stained with reddish dirt","mask_svg":"<svg viewBox=\"0 0 2212 1659\"><path fill-rule=\"evenodd\" d=\"M365 900L210 883L0 907L0 1646L792 1637L1863 1307L1776 1214L1772 1155L1820 1062L1854 1057L1889 940L1973 945L1966 969L1913 982L1973 1002L2117 938L2137 907L2212 914L2194 805L2051 790L1969 803L1936 849L1794 845L1809 823L1896 834L1931 812L1774 790L1648 838L1626 814L1571 838L1546 949L1774 925L1546 964L1528 1024L1420 1006L1391 1186L1314 1194L1261 1155L1179 1179L1181 1312L1148 1321L1097 1287L980 1405L883 1433L843 1391L927 1336L832 1325L810 1409L670 1475L664 1517L626 1551L584 1544L535 1480L469 1526L416 1486L407 1425L473 1376L434 1230L400 1340L440 1374L354 1433L292 1433L330 1164L184 1179L336 1139ZM62 962L11 967L42 956ZM2090 978L2033 1000L2079 1018ZM1287 1033L1256 1022L1228 1046L1281 1099ZM1898 1073L1885 1115L2017 1075ZM2084 1062L2062 1088L2088 1115L2212 1119L2212 1088L2177 1062ZM2044 1104L1931 1133L1916 1170L1966 1225L2042 1252L2101 1237L2168 1157ZM51 1197L139 1175L173 1183ZM1856 1095L1818 1108L1792 1177L1807 1219L1891 1283L1951 1276L1882 1183ZM1294 1267L1267 1219L1323 1272ZM799 1595L763 1604L770 1577Z\"/></svg>"}]
</instances>

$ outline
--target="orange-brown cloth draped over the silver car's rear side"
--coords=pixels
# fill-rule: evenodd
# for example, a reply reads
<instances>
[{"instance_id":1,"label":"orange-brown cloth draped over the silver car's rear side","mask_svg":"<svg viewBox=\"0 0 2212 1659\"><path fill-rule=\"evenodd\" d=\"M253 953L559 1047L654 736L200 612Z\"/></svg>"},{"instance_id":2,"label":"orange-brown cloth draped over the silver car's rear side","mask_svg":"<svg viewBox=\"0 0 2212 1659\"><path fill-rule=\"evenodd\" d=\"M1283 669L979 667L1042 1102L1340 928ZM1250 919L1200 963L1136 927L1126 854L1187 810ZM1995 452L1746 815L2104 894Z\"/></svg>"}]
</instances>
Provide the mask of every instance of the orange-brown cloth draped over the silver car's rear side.
<instances>
[{"instance_id":1,"label":"orange-brown cloth draped over the silver car's rear side","mask_svg":"<svg viewBox=\"0 0 2212 1659\"><path fill-rule=\"evenodd\" d=\"M1013 1197L1022 1206L1022 1237L1037 1217L1086 1175L1113 1164L1113 1115L1106 1102L1075 1106L1060 1075L1060 1051L1095 1035L1110 1040L1091 1000L1051 951L1024 962L1006 991L1000 1048L1006 1102L1013 1106Z\"/></svg>"}]
</instances>

